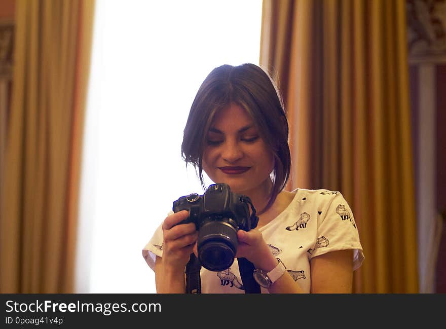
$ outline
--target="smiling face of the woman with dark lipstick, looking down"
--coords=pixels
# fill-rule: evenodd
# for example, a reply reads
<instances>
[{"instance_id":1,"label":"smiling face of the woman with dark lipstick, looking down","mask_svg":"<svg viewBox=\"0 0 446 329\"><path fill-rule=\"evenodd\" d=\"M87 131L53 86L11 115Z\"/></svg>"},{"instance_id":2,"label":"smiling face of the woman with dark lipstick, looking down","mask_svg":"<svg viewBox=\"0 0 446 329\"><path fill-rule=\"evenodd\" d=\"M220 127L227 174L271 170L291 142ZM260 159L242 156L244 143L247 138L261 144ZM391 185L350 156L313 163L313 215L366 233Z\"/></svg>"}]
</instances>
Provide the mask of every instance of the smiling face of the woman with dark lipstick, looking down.
<instances>
[{"instance_id":1,"label":"smiling face of the woman with dark lipstick, looking down","mask_svg":"<svg viewBox=\"0 0 446 329\"><path fill-rule=\"evenodd\" d=\"M203 170L215 183L238 194L268 190L274 157L254 121L237 104L217 112L205 139Z\"/></svg>"}]
</instances>

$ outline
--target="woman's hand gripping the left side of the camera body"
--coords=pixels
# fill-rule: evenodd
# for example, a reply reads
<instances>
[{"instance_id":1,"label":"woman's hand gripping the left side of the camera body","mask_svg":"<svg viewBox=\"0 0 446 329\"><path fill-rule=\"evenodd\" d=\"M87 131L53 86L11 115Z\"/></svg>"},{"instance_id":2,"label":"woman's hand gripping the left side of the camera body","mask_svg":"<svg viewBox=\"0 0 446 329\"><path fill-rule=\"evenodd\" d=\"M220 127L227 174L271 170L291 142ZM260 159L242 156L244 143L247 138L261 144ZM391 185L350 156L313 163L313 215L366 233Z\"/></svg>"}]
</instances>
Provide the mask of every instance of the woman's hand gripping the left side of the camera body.
<instances>
[{"instance_id":1,"label":"woman's hand gripping the left side of the camera body","mask_svg":"<svg viewBox=\"0 0 446 329\"><path fill-rule=\"evenodd\" d=\"M166 217L163 223L163 257L165 271L184 273L194 245L198 239L198 231L194 223L179 224L189 216L189 211L181 210Z\"/></svg>"}]
</instances>

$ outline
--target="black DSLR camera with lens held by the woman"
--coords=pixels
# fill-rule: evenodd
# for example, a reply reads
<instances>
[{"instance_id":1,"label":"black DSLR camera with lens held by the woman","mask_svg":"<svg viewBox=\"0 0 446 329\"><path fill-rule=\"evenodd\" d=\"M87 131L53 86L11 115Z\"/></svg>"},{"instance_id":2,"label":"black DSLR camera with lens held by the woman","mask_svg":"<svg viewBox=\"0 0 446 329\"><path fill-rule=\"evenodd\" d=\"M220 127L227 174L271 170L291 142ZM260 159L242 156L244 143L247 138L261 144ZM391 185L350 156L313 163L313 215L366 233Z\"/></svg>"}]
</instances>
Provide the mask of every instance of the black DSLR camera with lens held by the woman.
<instances>
[{"instance_id":1,"label":"black DSLR camera with lens held by the woman","mask_svg":"<svg viewBox=\"0 0 446 329\"><path fill-rule=\"evenodd\" d=\"M210 185L203 195L192 193L180 197L173 202L172 210L189 211L189 217L178 224L195 224L198 259L210 271L228 269L237 252L237 231L249 231L258 223L249 197L232 193L224 183Z\"/></svg>"}]
</instances>

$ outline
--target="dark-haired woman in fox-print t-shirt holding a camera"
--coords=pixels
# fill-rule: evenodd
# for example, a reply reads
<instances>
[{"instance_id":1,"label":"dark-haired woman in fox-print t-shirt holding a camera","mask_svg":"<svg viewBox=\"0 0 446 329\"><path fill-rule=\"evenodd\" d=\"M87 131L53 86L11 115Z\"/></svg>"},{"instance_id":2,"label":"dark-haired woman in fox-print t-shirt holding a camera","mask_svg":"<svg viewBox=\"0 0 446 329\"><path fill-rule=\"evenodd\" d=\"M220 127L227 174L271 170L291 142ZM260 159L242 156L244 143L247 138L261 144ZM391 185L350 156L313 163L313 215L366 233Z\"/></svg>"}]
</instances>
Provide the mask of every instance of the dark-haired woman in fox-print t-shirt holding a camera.
<instances>
[{"instance_id":1,"label":"dark-haired woman in fox-print t-shirt holding a camera","mask_svg":"<svg viewBox=\"0 0 446 329\"><path fill-rule=\"evenodd\" d=\"M352 211L340 192L284 190L290 173L288 122L272 79L254 64L222 65L191 106L183 159L214 182L248 196L259 218L237 233L236 258L256 268L262 293L351 293L364 259ZM143 250L158 293L184 293L184 267L197 253L189 213L170 213ZM203 293L244 293L237 259L225 271L201 269Z\"/></svg>"}]
</instances>

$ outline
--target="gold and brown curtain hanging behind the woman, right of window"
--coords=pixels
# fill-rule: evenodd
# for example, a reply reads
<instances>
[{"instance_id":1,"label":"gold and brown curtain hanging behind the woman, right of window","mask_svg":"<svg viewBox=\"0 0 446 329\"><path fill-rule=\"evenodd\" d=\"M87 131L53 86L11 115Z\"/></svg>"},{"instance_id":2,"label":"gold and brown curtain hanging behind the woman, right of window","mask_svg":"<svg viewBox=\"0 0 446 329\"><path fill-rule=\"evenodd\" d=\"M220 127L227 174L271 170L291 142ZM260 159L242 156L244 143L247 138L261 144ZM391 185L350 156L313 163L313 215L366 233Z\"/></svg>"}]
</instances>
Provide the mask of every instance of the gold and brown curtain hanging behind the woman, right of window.
<instances>
[{"instance_id":1,"label":"gold and brown curtain hanging behind the woman, right of window","mask_svg":"<svg viewBox=\"0 0 446 329\"><path fill-rule=\"evenodd\" d=\"M404 0L264 0L260 64L290 122L288 188L341 191L355 293L418 293Z\"/></svg>"}]
</instances>

